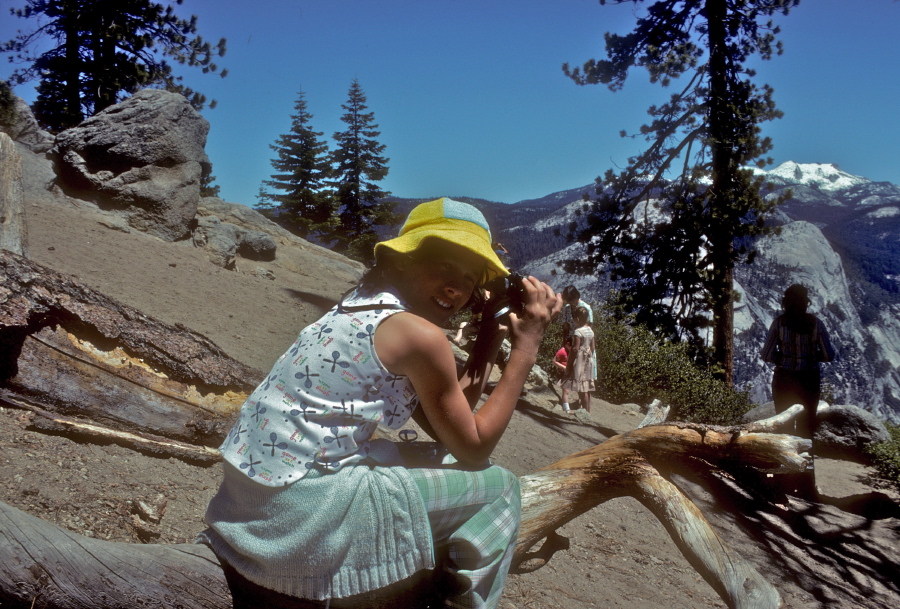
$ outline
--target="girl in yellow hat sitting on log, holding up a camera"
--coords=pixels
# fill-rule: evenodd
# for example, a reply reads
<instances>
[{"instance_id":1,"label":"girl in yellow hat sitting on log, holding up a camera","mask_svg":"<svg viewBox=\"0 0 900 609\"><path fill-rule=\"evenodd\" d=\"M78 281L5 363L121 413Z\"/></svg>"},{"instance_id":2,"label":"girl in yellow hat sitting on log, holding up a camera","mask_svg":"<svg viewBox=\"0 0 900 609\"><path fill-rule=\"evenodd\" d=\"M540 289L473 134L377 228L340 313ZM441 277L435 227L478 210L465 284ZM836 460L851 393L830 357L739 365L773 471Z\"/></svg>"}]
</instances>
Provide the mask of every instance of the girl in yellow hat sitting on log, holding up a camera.
<instances>
[{"instance_id":1,"label":"girl in yellow hat sitting on log, holding up a camera","mask_svg":"<svg viewBox=\"0 0 900 609\"><path fill-rule=\"evenodd\" d=\"M423 203L375 259L242 407L201 540L244 578L298 598L358 598L438 567L453 580L449 606L495 607L520 498L516 477L487 459L561 299L525 279L523 312L508 329L486 315L458 375L441 326L508 274L484 217L447 198ZM507 332L503 376L473 413ZM372 439L410 416L455 467L407 468L394 444Z\"/></svg>"}]
</instances>

